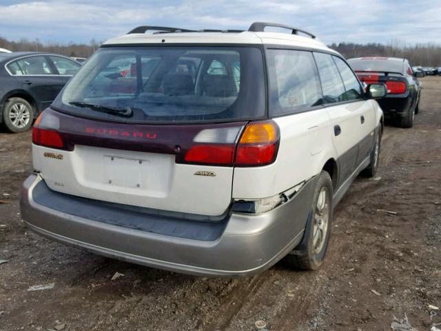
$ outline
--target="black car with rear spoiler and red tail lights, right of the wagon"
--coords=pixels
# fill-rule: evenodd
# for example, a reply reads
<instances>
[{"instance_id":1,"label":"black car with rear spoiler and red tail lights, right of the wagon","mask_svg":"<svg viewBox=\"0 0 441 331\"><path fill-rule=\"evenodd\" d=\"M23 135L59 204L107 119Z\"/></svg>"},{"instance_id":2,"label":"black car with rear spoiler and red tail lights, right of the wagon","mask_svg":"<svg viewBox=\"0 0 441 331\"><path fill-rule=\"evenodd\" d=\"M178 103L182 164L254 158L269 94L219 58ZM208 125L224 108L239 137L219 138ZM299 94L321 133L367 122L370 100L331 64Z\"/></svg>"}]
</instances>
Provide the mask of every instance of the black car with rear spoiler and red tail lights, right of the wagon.
<instances>
[{"instance_id":1,"label":"black car with rear spoiler and red tail lights, right of the wagon","mask_svg":"<svg viewBox=\"0 0 441 331\"><path fill-rule=\"evenodd\" d=\"M411 128L413 118L418 114L421 85L407 59L395 57L358 57L348 63L360 81L367 84L384 83L387 96L378 99L384 117L396 119L401 128Z\"/></svg>"}]
</instances>

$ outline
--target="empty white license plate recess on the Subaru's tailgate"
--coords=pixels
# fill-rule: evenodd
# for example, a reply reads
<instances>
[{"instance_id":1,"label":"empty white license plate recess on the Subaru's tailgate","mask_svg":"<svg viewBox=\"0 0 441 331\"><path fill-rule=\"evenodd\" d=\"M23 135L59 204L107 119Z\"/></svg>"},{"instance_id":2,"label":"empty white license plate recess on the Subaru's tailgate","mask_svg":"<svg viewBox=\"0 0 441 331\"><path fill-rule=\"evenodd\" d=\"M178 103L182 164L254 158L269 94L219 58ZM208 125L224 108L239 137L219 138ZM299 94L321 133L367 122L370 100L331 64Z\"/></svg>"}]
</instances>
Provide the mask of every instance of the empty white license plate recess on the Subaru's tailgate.
<instances>
[{"instance_id":1,"label":"empty white license plate recess on the Subaru's tailgate","mask_svg":"<svg viewBox=\"0 0 441 331\"><path fill-rule=\"evenodd\" d=\"M104 181L108 185L146 190L150 177L150 161L104 156Z\"/></svg>"}]
</instances>

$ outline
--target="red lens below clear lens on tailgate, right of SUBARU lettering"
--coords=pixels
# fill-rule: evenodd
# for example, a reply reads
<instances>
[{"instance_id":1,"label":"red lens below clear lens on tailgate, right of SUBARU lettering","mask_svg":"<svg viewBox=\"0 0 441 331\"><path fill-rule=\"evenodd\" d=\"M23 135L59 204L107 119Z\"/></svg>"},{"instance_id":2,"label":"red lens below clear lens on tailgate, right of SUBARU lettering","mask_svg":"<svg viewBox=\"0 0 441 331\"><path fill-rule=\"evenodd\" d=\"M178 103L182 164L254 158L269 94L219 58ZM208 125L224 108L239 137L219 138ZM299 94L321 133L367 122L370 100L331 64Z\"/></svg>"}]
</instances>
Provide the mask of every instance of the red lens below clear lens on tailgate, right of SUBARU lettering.
<instances>
[{"instance_id":1,"label":"red lens below clear lens on tailgate, right of SUBARU lettering","mask_svg":"<svg viewBox=\"0 0 441 331\"><path fill-rule=\"evenodd\" d=\"M185 154L185 161L210 165L232 165L234 145L196 145Z\"/></svg>"}]
</instances>

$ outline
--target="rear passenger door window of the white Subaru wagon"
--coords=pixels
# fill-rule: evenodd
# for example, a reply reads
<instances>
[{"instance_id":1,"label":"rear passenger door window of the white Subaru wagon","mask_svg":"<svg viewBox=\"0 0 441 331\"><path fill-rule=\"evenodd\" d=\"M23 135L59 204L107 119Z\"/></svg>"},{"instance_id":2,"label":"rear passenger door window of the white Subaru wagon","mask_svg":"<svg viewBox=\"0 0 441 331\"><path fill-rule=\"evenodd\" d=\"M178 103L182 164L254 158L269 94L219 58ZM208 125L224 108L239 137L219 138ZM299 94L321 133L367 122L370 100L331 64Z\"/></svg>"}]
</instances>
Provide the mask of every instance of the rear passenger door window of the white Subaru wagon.
<instances>
[{"instance_id":1,"label":"rear passenger door window of the white Subaru wagon","mask_svg":"<svg viewBox=\"0 0 441 331\"><path fill-rule=\"evenodd\" d=\"M314 52L314 57L316 58L320 81L322 82L323 100L325 103L345 101L345 86L331 55Z\"/></svg>"}]
</instances>

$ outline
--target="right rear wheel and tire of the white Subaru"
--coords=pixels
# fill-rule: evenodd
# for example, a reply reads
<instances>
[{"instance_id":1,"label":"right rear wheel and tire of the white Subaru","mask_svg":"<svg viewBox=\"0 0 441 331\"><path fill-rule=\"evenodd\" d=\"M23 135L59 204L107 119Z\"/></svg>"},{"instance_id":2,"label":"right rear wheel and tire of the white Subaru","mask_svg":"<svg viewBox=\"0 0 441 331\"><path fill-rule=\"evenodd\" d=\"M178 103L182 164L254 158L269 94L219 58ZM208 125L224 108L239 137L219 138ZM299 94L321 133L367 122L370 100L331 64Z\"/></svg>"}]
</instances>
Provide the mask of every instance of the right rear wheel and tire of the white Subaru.
<instances>
[{"instance_id":1,"label":"right rear wheel and tire of the white Subaru","mask_svg":"<svg viewBox=\"0 0 441 331\"><path fill-rule=\"evenodd\" d=\"M314 189L312 217L305 228L303 242L307 247L306 253L298 254L294 249L292 253L287 254L283 263L289 268L317 270L325 259L331 234L333 192L331 177L322 170Z\"/></svg>"}]
</instances>

